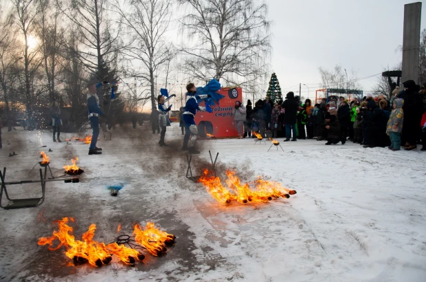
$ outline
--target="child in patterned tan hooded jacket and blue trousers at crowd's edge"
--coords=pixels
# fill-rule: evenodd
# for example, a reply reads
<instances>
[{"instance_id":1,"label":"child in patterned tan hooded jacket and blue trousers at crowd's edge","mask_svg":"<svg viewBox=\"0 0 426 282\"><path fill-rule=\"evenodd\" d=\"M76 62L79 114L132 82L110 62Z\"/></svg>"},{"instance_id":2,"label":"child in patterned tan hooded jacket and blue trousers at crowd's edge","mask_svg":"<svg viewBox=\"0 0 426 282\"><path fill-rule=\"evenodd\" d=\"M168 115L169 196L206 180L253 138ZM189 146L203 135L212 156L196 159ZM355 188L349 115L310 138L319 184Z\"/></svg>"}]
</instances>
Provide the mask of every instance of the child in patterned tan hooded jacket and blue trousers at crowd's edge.
<instances>
[{"instance_id":1,"label":"child in patterned tan hooded jacket and blue trousers at crowd's edge","mask_svg":"<svg viewBox=\"0 0 426 282\"><path fill-rule=\"evenodd\" d=\"M389 117L387 122L386 133L389 135L391 140L391 146L388 148L392 151L399 151L401 144L401 132L403 131L403 122L404 122L404 110L403 110L404 100L395 99L394 100L394 109Z\"/></svg>"}]
</instances>

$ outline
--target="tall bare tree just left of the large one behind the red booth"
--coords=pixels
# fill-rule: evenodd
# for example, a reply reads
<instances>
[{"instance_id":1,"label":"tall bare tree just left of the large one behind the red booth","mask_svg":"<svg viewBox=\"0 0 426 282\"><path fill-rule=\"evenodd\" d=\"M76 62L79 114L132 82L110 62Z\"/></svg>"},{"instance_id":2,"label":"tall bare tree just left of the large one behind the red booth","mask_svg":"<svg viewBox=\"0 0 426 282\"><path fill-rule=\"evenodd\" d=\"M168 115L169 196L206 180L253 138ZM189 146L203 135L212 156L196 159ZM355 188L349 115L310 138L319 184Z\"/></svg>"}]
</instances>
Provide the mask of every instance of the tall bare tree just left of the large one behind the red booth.
<instances>
[{"instance_id":1,"label":"tall bare tree just left of the large one behind the red booth","mask_svg":"<svg viewBox=\"0 0 426 282\"><path fill-rule=\"evenodd\" d=\"M172 0L132 0L125 10L116 2L121 23L133 41L123 50L127 59L138 61L141 68L132 74L150 84L151 109L155 109L156 71L175 56L174 47L166 41ZM137 68L137 67L136 67Z\"/></svg>"}]
</instances>

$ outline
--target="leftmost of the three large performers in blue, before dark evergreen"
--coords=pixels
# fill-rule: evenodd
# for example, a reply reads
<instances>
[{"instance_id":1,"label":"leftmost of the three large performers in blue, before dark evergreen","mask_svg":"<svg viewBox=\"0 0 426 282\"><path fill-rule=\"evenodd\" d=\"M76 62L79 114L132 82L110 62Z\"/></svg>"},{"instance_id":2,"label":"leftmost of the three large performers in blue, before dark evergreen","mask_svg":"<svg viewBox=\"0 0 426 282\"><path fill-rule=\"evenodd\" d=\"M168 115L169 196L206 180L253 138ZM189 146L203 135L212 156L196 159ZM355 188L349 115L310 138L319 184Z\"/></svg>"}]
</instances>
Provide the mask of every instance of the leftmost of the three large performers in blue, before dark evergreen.
<instances>
[{"instance_id":1,"label":"leftmost of the three large performers in blue, before dark evergreen","mask_svg":"<svg viewBox=\"0 0 426 282\"><path fill-rule=\"evenodd\" d=\"M90 83L88 85L90 97L88 98L89 120L92 124L92 142L89 147L89 155L101 155L101 148L96 147L99 136L99 116L103 116L103 112L98 106L97 85Z\"/></svg>"}]
</instances>

